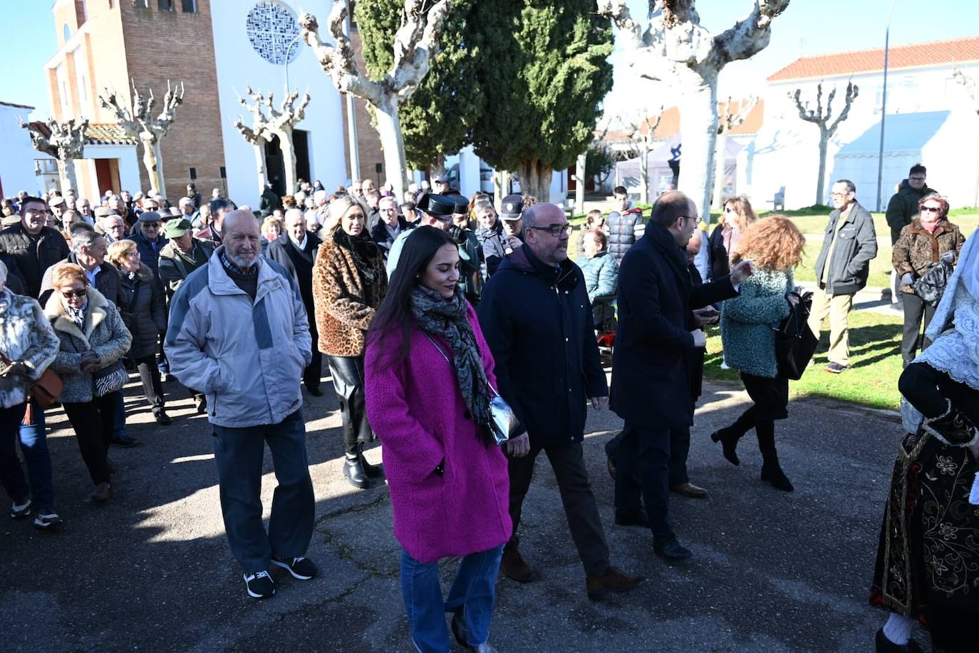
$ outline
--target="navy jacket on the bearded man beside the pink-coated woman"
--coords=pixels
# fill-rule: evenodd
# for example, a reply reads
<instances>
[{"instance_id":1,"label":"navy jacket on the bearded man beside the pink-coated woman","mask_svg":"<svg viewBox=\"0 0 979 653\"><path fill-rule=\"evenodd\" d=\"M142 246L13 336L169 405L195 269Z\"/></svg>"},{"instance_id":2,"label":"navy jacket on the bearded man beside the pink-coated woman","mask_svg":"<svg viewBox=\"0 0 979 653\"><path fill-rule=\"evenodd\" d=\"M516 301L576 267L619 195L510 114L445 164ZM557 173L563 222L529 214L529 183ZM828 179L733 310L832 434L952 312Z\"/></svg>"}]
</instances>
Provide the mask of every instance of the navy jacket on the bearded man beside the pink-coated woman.
<instances>
[{"instance_id":1,"label":"navy jacket on the bearded man beside the pink-coated woman","mask_svg":"<svg viewBox=\"0 0 979 653\"><path fill-rule=\"evenodd\" d=\"M503 259L483 289L480 326L499 394L531 443L578 443L585 400L607 396L582 270L541 262L527 246Z\"/></svg>"}]
</instances>

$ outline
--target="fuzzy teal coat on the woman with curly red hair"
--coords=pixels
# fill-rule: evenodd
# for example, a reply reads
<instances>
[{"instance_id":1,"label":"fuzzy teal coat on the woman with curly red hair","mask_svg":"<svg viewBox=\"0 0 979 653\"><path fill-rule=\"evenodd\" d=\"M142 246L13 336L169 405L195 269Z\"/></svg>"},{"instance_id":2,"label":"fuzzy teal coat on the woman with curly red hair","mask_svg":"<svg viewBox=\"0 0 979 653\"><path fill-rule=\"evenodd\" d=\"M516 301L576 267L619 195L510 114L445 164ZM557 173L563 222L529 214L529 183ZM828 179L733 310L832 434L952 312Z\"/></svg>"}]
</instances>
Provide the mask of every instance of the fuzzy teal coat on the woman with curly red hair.
<instances>
[{"instance_id":1,"label":"fuzzy teal coat on the woman with curly red hair","mask_svg":"<svg viewBox=\"0 0 979 653\"><path fill-rule=\"evenodd\" d=\"M724 360L736 370L773 379L778 375L775 327L789 314L785 295L794 290L792 270L756 269L740 295L721 306Z\"/></svg>"}]
</instances>

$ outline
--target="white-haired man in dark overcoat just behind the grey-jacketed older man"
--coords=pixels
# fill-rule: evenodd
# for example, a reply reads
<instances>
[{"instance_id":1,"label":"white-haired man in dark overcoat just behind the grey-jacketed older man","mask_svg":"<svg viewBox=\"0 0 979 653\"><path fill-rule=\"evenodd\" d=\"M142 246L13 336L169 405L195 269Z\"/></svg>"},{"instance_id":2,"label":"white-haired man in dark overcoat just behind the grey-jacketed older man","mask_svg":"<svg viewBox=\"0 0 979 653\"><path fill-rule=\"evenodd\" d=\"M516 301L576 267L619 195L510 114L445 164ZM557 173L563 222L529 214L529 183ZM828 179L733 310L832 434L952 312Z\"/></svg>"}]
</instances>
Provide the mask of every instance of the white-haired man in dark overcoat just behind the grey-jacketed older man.
<instances>
[{"instance_id":1,"label":"white-haired man in dark overcoat just behind the grey-jacketed older man","mask_svg":"<svg viewBox=\"0 0 979 653\"><path fill-rule=\"evenodd\" d=\"M323 376L323 354L316 346L319 335L316 332L316 313L312 303L312 266L316 262L321 241L315 234L306 231L303 210L287 210L284 218L286 231L268 244L265 257L289 270L300 287L306 315L309 316L309 335L312 337L312 360L303 370L303 384L310 395L322 396L323 391L319 384Z\"/></svg>"}]
</instances>

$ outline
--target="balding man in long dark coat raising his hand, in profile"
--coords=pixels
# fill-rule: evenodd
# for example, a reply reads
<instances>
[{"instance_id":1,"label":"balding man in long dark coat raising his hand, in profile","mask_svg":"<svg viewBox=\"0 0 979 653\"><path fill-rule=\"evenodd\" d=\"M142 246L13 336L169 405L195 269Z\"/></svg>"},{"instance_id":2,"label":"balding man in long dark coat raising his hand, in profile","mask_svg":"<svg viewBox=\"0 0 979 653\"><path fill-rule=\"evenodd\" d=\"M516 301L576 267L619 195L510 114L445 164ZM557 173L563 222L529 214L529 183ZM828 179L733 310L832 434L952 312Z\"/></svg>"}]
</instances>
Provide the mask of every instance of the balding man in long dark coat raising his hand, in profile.
<instances>
[{"instance_id":1,"label":"balding man in long dark coat raising his hand, in profile","mask_svg":"<svg viewBox=\"0 0 979 653\"><path fill-rule=\"evenodd\" d=\"M694 286L683 248L699 221L688 197L663 194L619 269L611 399L626 426L618 451L616 522L648 525L653 550L668 560L693 555L677 540L670 520L671 431L693 423L691 354L707 343L703 331L691 328L692 309L734 297L736 285L753 271L743 261L729 277Z\"/></svg>"}]
</instances>

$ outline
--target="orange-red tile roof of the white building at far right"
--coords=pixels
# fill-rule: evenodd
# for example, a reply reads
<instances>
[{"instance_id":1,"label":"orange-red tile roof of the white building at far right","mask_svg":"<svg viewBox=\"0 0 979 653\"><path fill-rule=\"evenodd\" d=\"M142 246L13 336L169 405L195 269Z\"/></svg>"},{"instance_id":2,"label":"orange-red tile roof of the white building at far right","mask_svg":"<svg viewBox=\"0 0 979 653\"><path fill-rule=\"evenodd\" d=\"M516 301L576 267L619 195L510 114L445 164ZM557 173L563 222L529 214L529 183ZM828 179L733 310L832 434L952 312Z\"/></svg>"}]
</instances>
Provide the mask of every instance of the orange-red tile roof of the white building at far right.
<instances>
[{"instance_id":1,"label":"orange-red tile roof of the white building at far right","mask_svg":"<svg viewBox=\"0 0 979 653\"><path fill-rule=\"evenodd\" d=\"M979 61L979 36L969 36L949 41L894 46L889 50L887 67L907 69L975 61ZM883 48L803 57L769 76L769 81L834 77L875 70L884 70Z\"/></svg>"}]
</instances>

